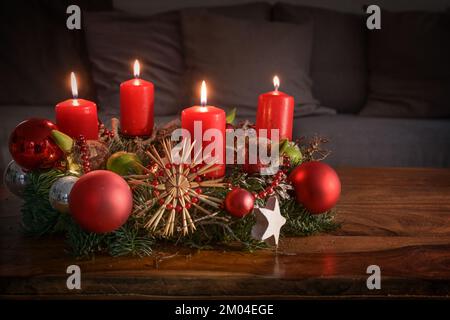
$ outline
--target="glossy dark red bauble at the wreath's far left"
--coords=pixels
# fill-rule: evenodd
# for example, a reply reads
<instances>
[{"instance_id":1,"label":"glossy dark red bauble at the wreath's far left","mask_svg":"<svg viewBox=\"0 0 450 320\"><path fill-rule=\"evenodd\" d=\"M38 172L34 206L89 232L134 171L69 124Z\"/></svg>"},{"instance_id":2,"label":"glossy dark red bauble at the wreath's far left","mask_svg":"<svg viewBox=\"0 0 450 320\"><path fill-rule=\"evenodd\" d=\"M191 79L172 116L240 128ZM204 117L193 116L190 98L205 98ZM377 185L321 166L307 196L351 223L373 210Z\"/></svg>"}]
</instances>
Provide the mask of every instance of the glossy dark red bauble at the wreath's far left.
<instances>
[{"instance_id":1,"label":"glossy dark red bauble at the wreath's far left","mask_svg":"<svg viewBox=\"0 0 450 320\"><path fill-rule=\"evenodd\" d=\"M50 133L58 128L47 119L33 118L17 125L9 137L9 152L24 169L48 169L61 159L63 152Z\"/></svg>"}]
</instances>

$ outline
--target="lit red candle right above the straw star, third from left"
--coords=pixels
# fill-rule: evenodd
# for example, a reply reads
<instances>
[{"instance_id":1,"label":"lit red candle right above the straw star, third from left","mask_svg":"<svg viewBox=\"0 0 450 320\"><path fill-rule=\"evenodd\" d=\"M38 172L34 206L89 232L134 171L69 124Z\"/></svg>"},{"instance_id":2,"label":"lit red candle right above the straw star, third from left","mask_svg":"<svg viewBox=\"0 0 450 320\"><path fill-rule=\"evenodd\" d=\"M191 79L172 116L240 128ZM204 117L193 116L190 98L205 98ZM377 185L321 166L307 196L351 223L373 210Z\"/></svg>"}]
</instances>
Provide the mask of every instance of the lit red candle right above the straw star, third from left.
<instances>
[{"instance_id":1,"label":"lit red candle right above the straw star, third from left","mask_svg":"<svg viewBox=\"0 0 450 320\"><path fill-rule=\"evenodd\" d=\"M195 122L201 122L201 132L195 132L194 126ZM221 147L220 142L217 148L214 149L212 156L218 158L218 164L214 165L216 170L211 171L206 174L208 178L220 178L225 175L225 125L226 125L226 115L225 111L214 106L206 105L206 84L205 81L202 83L201 89L201 106L193 106L186 108L181 112L181 127L189 131L191 135L191 140L198 140L202 146L202 155L205 148L210 143L215 143L215 138L212 141L204 141L204 133L208 129L217 129L220 132ZM201 134L201 135L200 135ZM196 142L196 143L199 143ZM195 149L194 149L195 150Z\"/></svg>"}]
</instances>

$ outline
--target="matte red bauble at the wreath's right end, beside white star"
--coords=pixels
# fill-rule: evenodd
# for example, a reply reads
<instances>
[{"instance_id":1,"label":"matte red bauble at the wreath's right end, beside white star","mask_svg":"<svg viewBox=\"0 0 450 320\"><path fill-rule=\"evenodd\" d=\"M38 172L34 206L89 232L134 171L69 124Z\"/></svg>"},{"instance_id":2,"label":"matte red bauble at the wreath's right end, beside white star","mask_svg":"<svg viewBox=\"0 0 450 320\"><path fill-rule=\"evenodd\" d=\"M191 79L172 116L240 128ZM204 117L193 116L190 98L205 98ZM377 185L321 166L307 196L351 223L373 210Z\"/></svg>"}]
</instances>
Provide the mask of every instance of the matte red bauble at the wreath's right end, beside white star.
<instances>
[{"instance_id":1,"label":"matte red bauble at the wreath's right end, beside white star","mask_svg":"<svg viewBox=\"0 0 450 320\"><path fill-rule=\"evenodd\" d=\"M299 203L313 214L333 208L341 194L341 181L329 165L311 161L295 168L289 175Z\"/></svg>"}]
</instances>

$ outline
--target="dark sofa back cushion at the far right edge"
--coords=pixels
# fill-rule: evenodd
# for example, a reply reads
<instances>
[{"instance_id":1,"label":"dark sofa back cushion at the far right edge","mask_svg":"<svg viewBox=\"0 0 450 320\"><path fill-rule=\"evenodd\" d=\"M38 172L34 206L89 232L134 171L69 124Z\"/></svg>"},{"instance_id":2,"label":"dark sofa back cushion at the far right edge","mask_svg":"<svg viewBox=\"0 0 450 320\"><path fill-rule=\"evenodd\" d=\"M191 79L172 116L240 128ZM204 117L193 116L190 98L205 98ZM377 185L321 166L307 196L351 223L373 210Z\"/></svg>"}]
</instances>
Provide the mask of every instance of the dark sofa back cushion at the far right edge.
<instances>
[{"instance_id":1,"label":"dark sofa back cushion at the far right edge","mask_svg":"<svg viewBox=\"0 0 450 320\"><path fill-rule=\"evenodd\" d=\"M446 14L382 12L369 32L369 99L361 115L450 116L450 19Z\"/></svg>"}]
</instances>

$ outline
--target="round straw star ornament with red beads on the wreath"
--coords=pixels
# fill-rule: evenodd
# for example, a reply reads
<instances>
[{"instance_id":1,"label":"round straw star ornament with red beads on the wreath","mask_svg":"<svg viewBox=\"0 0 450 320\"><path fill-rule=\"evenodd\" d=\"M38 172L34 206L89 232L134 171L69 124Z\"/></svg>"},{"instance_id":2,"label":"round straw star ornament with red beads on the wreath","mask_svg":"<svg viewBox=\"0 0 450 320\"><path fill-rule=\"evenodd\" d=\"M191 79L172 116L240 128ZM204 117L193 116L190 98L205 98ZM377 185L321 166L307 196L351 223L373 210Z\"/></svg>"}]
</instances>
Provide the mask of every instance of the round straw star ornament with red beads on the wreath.
<instances>
[{"instance_id":1,"label":"round straw star ornament with red beads on the wreath","mask_svg":"<svg viewBox=\"0 0 450 320\"><path fill-rule=\"evenodd\" d=\"M145 227L164 237L172 236L175 230L183 235L195 231L195 222L213 216L223 202L203 194L203 188L225 188L227 184L221 178L204 180L204 175L216 168L214 162L198 165L201 149L195 154L194 161L189 161L195 143L183 140L179 164L172 158L173 147L169 139L161 142L162 155L152 145L147 151L154 162L152 170L145 168L144 175L128 176L130 185L146 185L154 195L143 206L136 208L134 214L148 218ZM151 211L157 205L156 211Z\"/></svg>"}]
</instances>

